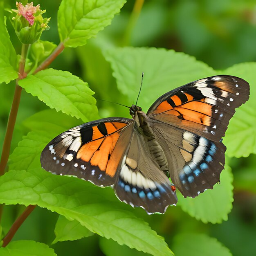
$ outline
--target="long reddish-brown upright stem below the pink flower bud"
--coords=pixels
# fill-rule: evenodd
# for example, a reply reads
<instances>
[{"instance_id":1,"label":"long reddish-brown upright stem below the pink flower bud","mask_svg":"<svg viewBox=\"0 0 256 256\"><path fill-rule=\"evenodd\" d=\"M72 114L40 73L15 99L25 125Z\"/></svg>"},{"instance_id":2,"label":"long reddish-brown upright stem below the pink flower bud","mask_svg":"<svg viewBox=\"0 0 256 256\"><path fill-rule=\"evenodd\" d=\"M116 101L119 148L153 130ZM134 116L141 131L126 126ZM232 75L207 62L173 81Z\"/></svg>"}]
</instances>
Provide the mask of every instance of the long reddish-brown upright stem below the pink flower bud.
<instances>
[{"instance_id":1,"label":"long reddish-brown upright stem below the pink flower bud","mask_svg":"<svg viewBox=\"0 0 256 256\"><path fill-rule=\"evenodd\" d=\"M20 104L20 94L22 91L22 88L18 85L18 81L20 79L23 79L24 74L24 67L25 67L25 61L26 61L26 55L27 55L27 49L29 45L22 45L21 49L21 57L20 57L20 66L19 66L19 77L16 79L16 87L15 92L13 96L13 101L11 105L11 111L7 123L6 133L4 137L4 144L2 148L2 155L1 155L1 161L0 161L0 176L4 174L4 170L7 165L7 161L9 159L10 154L10 148L11 148L11 139L13 135L13 129L16 122L16 117L18 113L18 108Z\"/></svg>"}]
</instances>

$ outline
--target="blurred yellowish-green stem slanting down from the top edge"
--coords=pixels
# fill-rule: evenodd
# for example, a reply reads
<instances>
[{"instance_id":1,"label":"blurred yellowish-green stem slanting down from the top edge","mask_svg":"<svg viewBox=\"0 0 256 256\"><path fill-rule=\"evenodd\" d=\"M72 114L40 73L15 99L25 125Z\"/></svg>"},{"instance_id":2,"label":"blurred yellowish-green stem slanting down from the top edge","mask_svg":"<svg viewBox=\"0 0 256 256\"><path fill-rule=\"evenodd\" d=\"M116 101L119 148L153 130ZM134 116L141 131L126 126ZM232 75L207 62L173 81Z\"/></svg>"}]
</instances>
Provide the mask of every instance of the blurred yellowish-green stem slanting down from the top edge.
<instances>
[{"instance_id":1,"label":"blurred yellowish-green stem slanting down from the top edge","mask_svg":"<svg viewBox=\"0 0 256 256\"><path fill-rule=\"evenodd\" d=\"M130 44L130 38L132 34L132 30L134 29L137 20L139 18L139 14L141 12L142 6L144 4L144 0L135 0L134 7L132 9L132 13L130 16L130 19L128 21L128 25L126 27L126 31L124 34L124 39L123 39L123 46L129 45Z\"/></svg>"}]
</instances>

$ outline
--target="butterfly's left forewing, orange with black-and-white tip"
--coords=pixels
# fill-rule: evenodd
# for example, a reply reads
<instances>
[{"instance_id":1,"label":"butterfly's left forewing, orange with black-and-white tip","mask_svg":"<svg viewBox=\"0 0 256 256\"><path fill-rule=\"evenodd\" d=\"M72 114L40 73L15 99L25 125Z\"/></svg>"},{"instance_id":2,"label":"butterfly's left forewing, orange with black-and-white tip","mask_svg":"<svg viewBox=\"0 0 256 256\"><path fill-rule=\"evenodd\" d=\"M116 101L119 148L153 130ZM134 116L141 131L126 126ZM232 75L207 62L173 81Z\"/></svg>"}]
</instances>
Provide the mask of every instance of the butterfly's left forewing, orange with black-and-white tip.
<instances>
[{"instance_id":1,"label":"butterfly's left forewing, orange with black-and-white tip","mask_svg":"<svg viewBox=\"0 0 256 256\"><path fill-rule=\"evenodd\" d=\"M41 165L59 175L75 175L111 186L130 144L134 120L105 118L61 133L41 153Z\"/></svg>"}]
</instances>

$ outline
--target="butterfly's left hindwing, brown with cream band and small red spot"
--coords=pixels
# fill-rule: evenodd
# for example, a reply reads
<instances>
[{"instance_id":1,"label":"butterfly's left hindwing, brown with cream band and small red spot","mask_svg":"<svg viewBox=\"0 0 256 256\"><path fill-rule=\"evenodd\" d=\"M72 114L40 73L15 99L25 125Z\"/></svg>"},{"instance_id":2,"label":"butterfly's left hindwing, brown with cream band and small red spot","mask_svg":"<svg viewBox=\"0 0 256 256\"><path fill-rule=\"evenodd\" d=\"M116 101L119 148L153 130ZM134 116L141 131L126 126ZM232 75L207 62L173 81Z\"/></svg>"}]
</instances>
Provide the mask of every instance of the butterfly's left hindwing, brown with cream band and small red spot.
<instances>
[{"instance_id":1,"label":"butterfly's left hindwing, brown with cream band and small red spot","mask_svg":"<svg viewBox=\"0 0 256 256\"><path fill-rule=\"evenodd\" d=\"M143 135L135 127L114 185L117 197L127 204L144 208L148 213L164 213L169 205L176 204L174 186L157 166Z\"/></svg>"}]
</instances>

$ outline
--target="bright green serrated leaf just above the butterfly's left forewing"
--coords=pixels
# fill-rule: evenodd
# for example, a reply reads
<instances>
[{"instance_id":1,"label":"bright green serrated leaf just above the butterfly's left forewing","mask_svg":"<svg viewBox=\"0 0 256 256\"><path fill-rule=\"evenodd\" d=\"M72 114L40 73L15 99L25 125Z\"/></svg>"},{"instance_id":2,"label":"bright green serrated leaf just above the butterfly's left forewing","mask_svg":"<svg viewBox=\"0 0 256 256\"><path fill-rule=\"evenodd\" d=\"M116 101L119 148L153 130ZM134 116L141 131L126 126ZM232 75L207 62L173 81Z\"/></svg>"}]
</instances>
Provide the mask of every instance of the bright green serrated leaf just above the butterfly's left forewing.
<instances>
[{"instance_id":1,"label":"bright green serrated leaf just above the butterfly's left forewing","mask_svg":"<svg viewBox=\"0 0 256 256\"><path fill-rule=\"evenodd\" d=\"M84 122L98 117L96 100L92 97L94 92L88 88L88 83L70 72L52 68L42 70L20 80L19 85L50 108Z\"/></svg>"}]
</instances>

